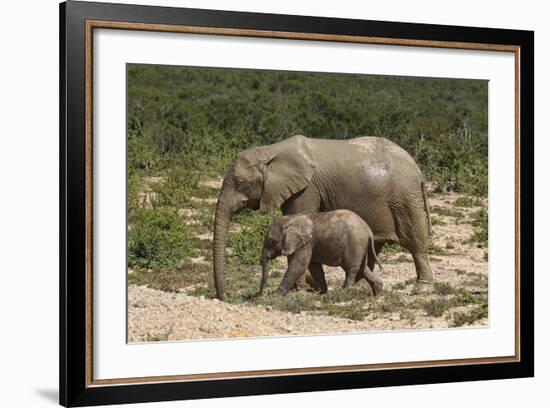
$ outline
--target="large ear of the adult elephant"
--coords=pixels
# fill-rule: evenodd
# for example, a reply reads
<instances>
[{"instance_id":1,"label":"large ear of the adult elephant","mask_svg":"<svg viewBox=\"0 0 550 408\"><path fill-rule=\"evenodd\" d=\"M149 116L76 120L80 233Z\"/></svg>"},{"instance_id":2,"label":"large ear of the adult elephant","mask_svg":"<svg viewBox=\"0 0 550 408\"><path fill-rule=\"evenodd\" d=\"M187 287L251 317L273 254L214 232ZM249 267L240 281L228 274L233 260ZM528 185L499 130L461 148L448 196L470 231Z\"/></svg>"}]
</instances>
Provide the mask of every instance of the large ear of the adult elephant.
<instances>
[{"instance_id":1,"label":"large ear of the adult elephant","mask_svg":"<svg viewBox=\"0 0 550 408\"><path fill-rule=\"evenodd\" d=\"M260 209L279 208L290 196L309 184L315 169L307 138L294 136L265 147L269 157L264 170L264 186Z\"/></svg>"}]
</instances>

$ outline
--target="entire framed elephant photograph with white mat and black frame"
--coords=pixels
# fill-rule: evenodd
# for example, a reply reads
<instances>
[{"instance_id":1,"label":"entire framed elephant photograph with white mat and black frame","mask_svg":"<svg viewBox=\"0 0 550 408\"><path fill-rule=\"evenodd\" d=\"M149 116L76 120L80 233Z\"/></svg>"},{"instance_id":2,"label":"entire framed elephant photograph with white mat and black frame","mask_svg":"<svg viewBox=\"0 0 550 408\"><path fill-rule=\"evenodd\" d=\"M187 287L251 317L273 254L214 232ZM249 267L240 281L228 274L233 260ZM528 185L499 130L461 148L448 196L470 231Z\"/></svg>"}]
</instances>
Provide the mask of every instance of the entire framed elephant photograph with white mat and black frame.
<instances>
[{"instance_id":1,"label":"entire framed elephant photograph with white mat and black frame","mask_svg":"<svg viewBox=\"0 0 550 408\"><path fill-rule=\"evenodd\" d=\"M533 32L60 27L62 405L534 375Z\"/></svg>"}]
</instances>

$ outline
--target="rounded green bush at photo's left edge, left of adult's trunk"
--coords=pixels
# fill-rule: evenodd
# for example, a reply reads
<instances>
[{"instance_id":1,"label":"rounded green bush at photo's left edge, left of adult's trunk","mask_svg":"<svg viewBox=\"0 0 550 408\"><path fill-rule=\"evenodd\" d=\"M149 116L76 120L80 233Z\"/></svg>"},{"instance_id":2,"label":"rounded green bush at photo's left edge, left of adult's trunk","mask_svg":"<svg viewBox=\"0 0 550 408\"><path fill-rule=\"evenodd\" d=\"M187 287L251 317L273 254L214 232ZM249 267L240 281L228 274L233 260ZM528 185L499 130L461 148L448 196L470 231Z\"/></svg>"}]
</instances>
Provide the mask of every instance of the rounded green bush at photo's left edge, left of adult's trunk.
<instances>
[{"instance_id":1,"label":"rounded green bush at photo's left edge, left of adult's trunk","mask_svg":"<svg viewBox=\"0 0 550 408\"><path fill-rule=\"evenodd\" d=\"M128 227L129 267L175 267L191 254L190 228L175 210L138 208Z\"/></svg>"}]
</instances>

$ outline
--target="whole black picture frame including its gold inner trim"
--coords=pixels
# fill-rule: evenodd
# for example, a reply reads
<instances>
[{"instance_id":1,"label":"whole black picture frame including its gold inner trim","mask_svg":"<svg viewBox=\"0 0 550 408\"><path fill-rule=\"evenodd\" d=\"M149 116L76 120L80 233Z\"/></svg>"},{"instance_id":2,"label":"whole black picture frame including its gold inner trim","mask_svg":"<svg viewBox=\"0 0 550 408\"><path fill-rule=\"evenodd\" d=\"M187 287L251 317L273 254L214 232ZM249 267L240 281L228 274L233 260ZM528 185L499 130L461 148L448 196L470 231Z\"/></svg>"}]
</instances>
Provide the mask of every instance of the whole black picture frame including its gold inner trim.
<instances>
[{"instance_id":1,"label":"whole black picture frame including its gold inner trim","mask_svg":"<svg viewBox=\"0 0 550 408\"><path fill-rule=\"evenodd\" d=\"M185 375L94 376L94 32L512 53L514 353ZM60 404L86 406L534 376L534 33L68 1L60 5ZM508 180L509 182L509 180ZM125 222L125 220L122 220ZM521 250L520 250L521 249ZM120 296L124 296L121 293ZM97 305L96 305L97 306ZM239 340L235 340L239 341ZM221 344L221 343L220 343ZM181 344L185 347L185 343Z\"/></svg>"}]
</instances>

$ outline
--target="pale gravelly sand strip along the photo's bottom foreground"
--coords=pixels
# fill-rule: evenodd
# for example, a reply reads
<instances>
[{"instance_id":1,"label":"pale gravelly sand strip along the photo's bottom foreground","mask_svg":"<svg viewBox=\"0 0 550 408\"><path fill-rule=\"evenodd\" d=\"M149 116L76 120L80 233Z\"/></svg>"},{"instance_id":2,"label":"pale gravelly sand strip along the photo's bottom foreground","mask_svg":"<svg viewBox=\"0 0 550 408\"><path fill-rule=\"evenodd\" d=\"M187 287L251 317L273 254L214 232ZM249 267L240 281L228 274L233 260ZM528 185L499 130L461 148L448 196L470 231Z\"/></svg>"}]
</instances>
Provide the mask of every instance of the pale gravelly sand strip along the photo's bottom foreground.
<instances>
[{"instance_id":1,"label":"pale gravelly sand strip along the photo's bottom foreground","mask_svg":"<svg viewBox=\"0 0 550 408\"><path fill-rule=\"evenodd\" d=\"M232 305L217 299L166 293L143 286L130 286L128 290L130 342L445 327L448 323L444 317L426 316L411 324L396 313L388 318L356 321L309 312L285 313L270 306Z\"/></svg>"}]
</instances>

